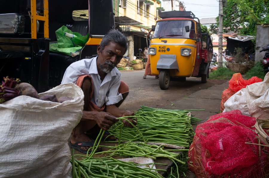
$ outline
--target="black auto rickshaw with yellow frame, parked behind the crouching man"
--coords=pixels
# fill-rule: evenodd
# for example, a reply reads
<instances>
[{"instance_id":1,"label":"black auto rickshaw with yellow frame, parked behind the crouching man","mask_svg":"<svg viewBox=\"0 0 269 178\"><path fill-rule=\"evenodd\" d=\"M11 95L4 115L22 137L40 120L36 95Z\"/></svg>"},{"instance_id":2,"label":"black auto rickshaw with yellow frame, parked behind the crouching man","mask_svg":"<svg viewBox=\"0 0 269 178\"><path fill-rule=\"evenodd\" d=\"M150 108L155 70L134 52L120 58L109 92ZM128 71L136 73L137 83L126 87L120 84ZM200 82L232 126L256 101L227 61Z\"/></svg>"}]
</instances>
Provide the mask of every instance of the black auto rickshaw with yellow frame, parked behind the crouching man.
<instances>
[{"instance_id":1,"label":"black auto rickshaw with yellow frame, parked behind the crouching man","mask_svg":"<svg viewBox=\"0 0 269 178\"><path fill-rule=\"evenodd\" d=\"M71 63L97 55L97 45L115 28L112 0L2 0L0 22L0 77L19 78L39 93L60 85ZM62 26L89 34L78 55L50 51Z\"/></svg>"}]
</instances>

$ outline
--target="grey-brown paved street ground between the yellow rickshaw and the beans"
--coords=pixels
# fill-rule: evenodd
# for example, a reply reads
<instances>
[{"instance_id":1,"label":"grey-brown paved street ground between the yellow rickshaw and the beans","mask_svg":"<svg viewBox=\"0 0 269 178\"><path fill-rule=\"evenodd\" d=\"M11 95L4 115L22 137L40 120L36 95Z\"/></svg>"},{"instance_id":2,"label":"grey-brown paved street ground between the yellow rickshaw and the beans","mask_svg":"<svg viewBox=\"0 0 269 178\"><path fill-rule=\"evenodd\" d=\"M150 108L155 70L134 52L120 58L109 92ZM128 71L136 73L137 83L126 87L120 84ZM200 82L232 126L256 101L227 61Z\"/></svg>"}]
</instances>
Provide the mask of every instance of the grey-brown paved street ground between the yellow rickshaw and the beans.
<instances>
[{"instance_id":1,"label":"grey-brown paved street ground between the yellow rickshaw and the beans","mask_svg":"<svg viewBox=\"0 0 269 178\"><path fill-rule=\"evenodd\" d=\"M135 111L140 105L165 109L205 109L192 111L195 117L202 119L198 124L219 112L221 94L229 85L227 80L208 80L203 84L201 78L189 77L186 82L171 81L168 90L161 90L159 81L154 76L142 79L144 70L121 71L121 73L122 81L129 85L130 90L129 96L120 106L121 109ZM197 124L193 125L194 130L196 126ZM101 143L101 145L112 146L115 143ZM81 153L76 151L75 154ZM156 165L156 168L166 170L173 164L167 159L157 159L155 162L168 164ZM187 173L187 176L195 177L195 174Z\"/></svg>"}]
</instances>

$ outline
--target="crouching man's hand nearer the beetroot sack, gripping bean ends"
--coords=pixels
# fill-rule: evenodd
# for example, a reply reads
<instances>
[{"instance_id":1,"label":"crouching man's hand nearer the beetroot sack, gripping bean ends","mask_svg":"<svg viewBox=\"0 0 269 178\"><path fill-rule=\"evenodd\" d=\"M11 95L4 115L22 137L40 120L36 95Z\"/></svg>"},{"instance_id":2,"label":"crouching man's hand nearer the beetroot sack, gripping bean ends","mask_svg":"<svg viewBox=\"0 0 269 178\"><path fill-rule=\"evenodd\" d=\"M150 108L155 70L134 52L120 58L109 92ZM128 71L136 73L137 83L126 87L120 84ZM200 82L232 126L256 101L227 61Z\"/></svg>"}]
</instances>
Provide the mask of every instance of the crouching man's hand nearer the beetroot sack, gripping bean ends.
<instances>
[{"instance_id":1,"label":"crouching man's hand nearer the beetroot sack, gripping bean ends","mask_svg":"<svg viewBox=\"0 0 269 178\"><path fill-rule=\"evenodd\" d=\"M108 130L113 124L119 121L114 115L106 112L94 112L94 120L104 130Z\"/></svg>"}]
</instances>

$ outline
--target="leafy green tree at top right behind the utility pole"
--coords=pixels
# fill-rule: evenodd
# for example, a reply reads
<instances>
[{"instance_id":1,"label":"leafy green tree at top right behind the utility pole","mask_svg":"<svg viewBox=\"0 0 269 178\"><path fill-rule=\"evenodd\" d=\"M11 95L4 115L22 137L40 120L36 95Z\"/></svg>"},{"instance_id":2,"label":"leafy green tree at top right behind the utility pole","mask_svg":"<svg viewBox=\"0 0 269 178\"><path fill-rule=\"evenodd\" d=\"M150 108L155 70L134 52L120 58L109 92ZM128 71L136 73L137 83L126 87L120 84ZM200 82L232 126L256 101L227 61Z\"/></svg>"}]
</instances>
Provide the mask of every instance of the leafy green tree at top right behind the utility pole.
<instances>
[{"instance_id":1,"label":"leafy green tree at top right behind the utility pole","mask_svg":"<svg viewBox=\"0 0 269 178\"><path fill-rule=\"evenodd\" d=\"M256 36L256 26L269 23L269 0L224 0L223 1L223 32L236 31L240 35ZM218 33L217 24L210 30Z\"/></svg>"}]
</instances>

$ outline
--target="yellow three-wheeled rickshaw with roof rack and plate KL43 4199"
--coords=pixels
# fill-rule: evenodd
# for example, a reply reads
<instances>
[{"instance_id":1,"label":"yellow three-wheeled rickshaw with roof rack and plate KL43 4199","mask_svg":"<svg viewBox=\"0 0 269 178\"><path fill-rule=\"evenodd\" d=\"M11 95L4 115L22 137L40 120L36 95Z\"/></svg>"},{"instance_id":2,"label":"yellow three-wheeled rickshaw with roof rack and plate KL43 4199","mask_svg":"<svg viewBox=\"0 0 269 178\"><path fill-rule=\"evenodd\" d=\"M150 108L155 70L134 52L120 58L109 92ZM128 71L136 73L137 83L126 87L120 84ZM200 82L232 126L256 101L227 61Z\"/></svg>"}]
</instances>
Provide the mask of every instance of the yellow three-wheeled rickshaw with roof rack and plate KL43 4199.
<instances>
[{"instance_id":1,"label":"yellow three-wheeled rickshaw with roof rack and plate KL43 4199","mask_svg":"<svg viewBox=\"0 0 269 178\"><path fill-rule=\"evenodd\" d=\"M159 75L162 90L171 79L194 76L206 83L213 53L208 34L201 33L199 19L191 11L169 11L152 26L149 55L151 73ZM195 21L197 19L198 21Z\"/></svg>"}]
</instances>

